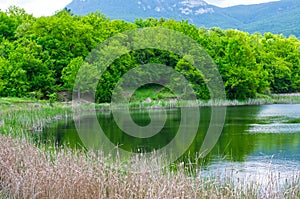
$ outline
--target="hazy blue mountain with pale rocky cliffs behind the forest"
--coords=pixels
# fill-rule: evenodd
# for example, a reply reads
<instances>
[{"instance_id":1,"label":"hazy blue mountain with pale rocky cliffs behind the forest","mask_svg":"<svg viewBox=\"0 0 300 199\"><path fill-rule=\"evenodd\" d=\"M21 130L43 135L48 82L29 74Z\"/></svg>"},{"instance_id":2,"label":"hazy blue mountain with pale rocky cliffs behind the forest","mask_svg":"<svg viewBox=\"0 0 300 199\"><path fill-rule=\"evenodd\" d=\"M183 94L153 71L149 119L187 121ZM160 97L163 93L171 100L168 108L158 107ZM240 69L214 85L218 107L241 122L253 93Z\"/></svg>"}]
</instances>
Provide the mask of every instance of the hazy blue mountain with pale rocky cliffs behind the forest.
<instances>
[{"instance_id":1,"label":"hazy blue mountain with pale rocky cliffs behind the forest","mask_svg":"<svg viewBox=\"0 0 300 199\"><path fill-rule=\"evenodd\" d=\"M234 28L248 32L290 34L300 38L300 1L281 0L220 8L203 0L73 0L74 14L100 11L111 19L174 18L197 26Z\"/></svg>"}]
</instances>

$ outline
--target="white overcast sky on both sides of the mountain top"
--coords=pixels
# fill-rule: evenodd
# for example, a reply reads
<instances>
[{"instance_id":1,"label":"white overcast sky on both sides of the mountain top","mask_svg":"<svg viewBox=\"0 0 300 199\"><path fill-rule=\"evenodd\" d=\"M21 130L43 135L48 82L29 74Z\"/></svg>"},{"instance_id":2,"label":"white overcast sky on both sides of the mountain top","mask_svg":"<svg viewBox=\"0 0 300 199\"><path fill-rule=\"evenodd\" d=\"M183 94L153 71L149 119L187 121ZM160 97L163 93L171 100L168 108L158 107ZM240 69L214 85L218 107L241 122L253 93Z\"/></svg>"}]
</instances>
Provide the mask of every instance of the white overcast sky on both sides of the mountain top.
<instances>
[{"instance_id":1,"label":"white overcast sky on both sides of the mountain top","mask_svg":"<svg viewBox=\"0 0 300 199\"><path fill-rule=\"evenodd\" d=\"M35 17L53 15L55 11L63 9L72 0L0 0L0 9L6 10L9 6L15 5L24 8L27 13ZM265 3L276 0L205 0L209 4L219 7L228 7L240 4Z\"/></svg>"}]
</instances>

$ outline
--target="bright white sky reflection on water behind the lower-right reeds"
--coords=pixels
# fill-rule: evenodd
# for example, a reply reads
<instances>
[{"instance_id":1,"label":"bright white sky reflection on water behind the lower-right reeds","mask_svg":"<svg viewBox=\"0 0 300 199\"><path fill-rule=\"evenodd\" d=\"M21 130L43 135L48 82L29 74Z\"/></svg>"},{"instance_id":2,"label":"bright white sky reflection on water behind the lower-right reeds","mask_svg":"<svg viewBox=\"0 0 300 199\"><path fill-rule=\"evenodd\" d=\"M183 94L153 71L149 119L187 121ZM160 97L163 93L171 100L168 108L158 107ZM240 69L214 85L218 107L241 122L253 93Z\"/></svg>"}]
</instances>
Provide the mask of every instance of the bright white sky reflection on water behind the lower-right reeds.
<instances>
[{"instance_id":1,"label":"bright white sky reflection on water behind the lower-right reeds","mask_svg":"<svg viewBox=\"0 0 300 199\"><path fill-rule=\"evenodd\" d=\"M275 156L251 157L244 162L213 162L198 173L199 177L216 177L221 181L230 180L235 187L247 189L251 184L260 185L262 189L272 186L284 187L299 175L300 161L277 159ZM242 187L241 187L242 186ZM263 191L263 190L262 190ZM265 191L265 190L264 190Z\"/></svg>"}]
</instances>

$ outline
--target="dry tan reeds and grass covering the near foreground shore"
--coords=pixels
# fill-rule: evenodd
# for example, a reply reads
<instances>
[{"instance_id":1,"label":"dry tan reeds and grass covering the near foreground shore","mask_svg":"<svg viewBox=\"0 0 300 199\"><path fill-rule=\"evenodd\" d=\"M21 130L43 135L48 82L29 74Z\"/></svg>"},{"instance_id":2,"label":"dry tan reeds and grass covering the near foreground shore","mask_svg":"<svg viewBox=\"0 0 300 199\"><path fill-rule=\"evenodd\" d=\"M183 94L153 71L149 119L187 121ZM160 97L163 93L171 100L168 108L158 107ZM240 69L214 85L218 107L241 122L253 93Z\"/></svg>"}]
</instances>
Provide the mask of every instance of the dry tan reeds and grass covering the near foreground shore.
<instances>
[{"instance_id":1,"label":"dry tan reeds and grass covering the near foreground shore","mask_svg":"<svg viewBox=\"0 0 300 199\"><path fill-rule=\"evenodd\" d=\"M0 136L0 196L5 198L298 198L299 175L284 190L233 183L233 176L191 177L157 169L161 159L124 163L101 153L45 150L26 140ZM149 170L153 172L147 172ZM136 171L136 172L129 172ZM275 182L276 183L276 182ZM264 191L265 190L265 191Z\"/></svg>"}]
</instances>

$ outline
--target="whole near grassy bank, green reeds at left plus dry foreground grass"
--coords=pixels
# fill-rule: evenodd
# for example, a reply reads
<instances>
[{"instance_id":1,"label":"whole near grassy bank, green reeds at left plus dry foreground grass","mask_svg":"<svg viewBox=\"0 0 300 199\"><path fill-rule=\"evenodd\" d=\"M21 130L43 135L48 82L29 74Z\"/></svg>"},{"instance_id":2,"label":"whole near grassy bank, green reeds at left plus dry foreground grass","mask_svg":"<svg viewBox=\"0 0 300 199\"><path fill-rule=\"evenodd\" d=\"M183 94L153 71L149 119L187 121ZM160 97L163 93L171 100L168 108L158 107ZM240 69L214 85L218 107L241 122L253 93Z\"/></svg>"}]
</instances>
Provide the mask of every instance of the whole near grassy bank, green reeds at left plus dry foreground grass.
<instances>
[{"instance_id":1,"label":"whole near grassy bank, green reeds at left plus dry foreground grass","mask_svg":"<svg viewBox=\"0 0 300 199\"><path fill-rule=\"evenodd\" d=\"M16 102L16 101L18 102ZM266 186L233 173L202 176L198 165L161 169L164 158L133 156L120 161L97 153L37 146L28 132L71 115L70 104L2 99L0 110L0 198L299 198L300 173L270 175ZM172 102L177 103L177 102ZM108 105L96 105L99 110ZM84 107L86 109L88 107ZM152 172L148 172L151 170ZM195 176L196 173L199 175ZM132 172L135 171L135 172ZM190 172L193 171L193 172ZM241 179L236 183L236 179Z\"/></svg>"}]
</instances>

